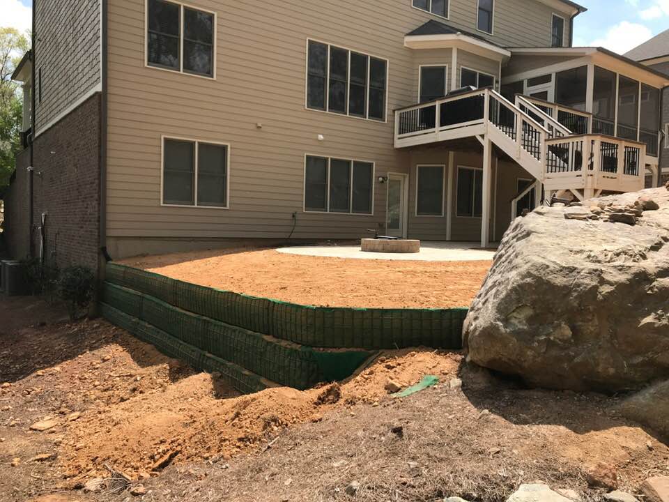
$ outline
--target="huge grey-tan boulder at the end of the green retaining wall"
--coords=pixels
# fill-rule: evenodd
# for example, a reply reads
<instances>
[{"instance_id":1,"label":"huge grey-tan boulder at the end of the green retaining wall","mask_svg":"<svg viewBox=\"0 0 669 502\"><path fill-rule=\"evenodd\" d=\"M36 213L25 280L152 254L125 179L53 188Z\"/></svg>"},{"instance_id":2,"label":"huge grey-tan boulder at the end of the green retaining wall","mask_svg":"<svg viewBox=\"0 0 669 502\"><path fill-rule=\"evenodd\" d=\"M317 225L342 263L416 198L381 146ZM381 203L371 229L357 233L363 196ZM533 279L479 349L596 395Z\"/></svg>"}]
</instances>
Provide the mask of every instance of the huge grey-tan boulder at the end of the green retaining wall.
<instances>
[{"instance_id":1,"label":"huge grey-tan boulder at the end of the green retaining wall","mask_svg":"<svg viewBox=\"0 0 669 502\"><path fill-rule=\"evenodd\" d=\"M669 377L669 191L540 207L505 234L465 321L472 363L616 392Z\"/></svg>"}]
</instances>

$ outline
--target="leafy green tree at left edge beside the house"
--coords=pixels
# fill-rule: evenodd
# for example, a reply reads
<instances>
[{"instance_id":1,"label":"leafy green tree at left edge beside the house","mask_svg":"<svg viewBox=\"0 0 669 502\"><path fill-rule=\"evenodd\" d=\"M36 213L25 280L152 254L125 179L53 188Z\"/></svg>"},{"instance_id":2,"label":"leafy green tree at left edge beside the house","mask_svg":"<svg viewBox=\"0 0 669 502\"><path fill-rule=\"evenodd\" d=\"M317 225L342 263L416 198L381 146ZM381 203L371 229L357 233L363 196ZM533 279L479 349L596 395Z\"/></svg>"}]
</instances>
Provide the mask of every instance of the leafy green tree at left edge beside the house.
<instances>
[{"instance_id":1,"label":"leafy green tree at left edge beside the house","mask_svg":"<svg viewBox=\"0 0 669 502\"><path fill-rule=\"evenodd\" d=\"M23 97L12 73L29 47L28 37L17 29L0 28L0 187L9 183L21 148Z\"/></svg>"}]
</instances>

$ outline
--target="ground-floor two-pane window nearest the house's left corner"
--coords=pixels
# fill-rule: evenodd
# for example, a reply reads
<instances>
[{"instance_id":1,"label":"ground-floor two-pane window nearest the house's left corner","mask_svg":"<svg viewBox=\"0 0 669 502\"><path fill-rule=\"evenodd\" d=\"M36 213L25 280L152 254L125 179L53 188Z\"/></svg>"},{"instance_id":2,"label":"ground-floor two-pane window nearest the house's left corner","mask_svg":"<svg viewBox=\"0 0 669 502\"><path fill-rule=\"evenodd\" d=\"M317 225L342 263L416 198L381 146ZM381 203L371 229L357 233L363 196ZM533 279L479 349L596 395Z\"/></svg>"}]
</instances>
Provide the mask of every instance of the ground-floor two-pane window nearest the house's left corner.
<instances>
[{"instance_id":1,"label":"ground-floor two-pane window nearest the house's left corner","mask_svg":"<svg viewBox=\"0 0 669 502\"><path fill-rule=\"evenodd\" d=\"M162 204L227 208L229 154L226 144L164 138Z\"/></svg>"}]
</instances>

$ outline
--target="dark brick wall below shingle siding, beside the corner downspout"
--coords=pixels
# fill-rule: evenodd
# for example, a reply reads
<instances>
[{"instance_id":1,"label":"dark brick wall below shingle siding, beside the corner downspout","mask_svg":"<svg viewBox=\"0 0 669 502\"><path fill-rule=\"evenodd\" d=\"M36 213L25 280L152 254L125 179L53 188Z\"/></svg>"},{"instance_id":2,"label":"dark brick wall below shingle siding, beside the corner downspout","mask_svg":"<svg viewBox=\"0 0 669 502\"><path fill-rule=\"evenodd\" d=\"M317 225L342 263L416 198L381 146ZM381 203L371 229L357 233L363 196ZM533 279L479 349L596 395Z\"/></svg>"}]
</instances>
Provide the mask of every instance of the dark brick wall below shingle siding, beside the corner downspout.
<instances>
[{"instance_id":1,"label":"dark brick wall below shingle siding, beside the corner downspout","mask_svg":"<svg viewBox=\"0 0 669 502\"><path fill-rule=\"evenodd\" d=\"M63 268L98 270L100 236L100 94L35 139L34 224L47 214L45 257ZM39 174L38 174L39 173ZM40 231L33 232L39 254Z\"/></svg>"}]
</instances>

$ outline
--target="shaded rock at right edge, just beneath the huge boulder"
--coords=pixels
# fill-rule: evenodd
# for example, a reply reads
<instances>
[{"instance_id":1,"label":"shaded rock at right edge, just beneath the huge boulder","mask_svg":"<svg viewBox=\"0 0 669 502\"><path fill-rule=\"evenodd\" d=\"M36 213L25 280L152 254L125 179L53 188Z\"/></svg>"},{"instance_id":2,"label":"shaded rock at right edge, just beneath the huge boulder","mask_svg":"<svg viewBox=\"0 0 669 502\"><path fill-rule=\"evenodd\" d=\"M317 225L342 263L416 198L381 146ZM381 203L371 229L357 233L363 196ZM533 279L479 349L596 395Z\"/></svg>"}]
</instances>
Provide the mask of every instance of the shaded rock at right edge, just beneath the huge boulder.
<instances>
[{"instance_id":1,"label":"shaded rock at right edge, just beneath the huge boulder","mask_svg":"<svg viewBox=\"0 0 669 502\"><path fill-rule=\"evenodd\" d=\"M616 410L625 418L647 425L669 437L669 380L656 383L628 397ZM650 443L649 449L653 445Z\"/></svg>"}]
</instances>

